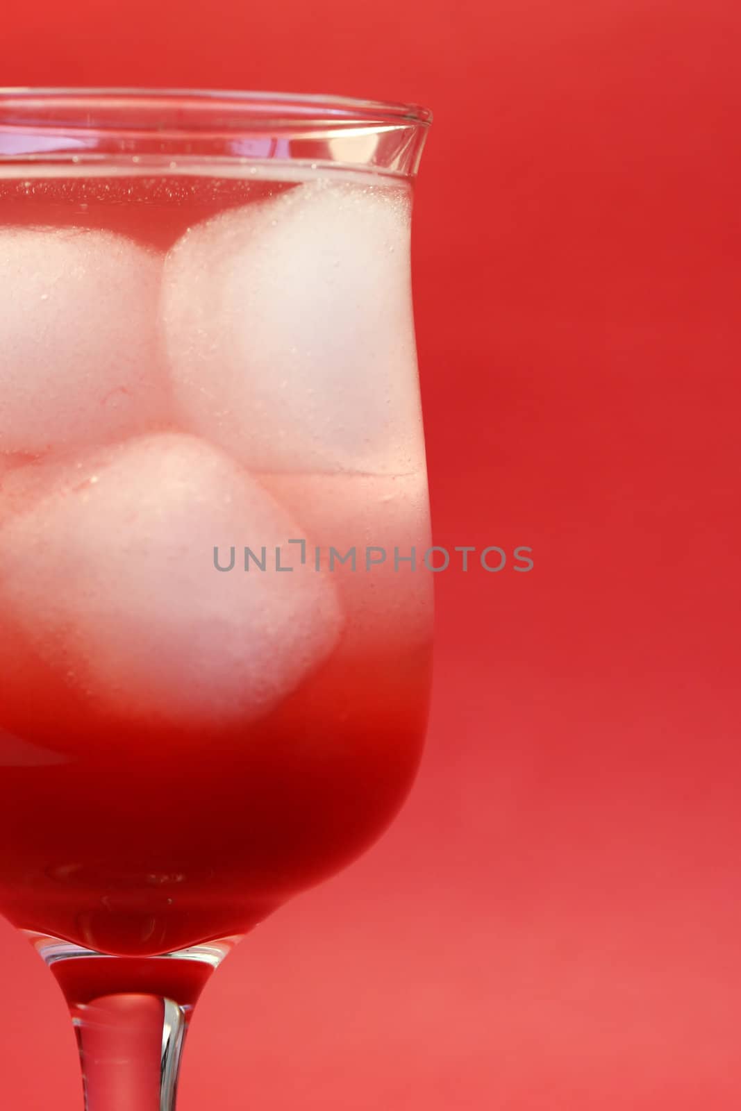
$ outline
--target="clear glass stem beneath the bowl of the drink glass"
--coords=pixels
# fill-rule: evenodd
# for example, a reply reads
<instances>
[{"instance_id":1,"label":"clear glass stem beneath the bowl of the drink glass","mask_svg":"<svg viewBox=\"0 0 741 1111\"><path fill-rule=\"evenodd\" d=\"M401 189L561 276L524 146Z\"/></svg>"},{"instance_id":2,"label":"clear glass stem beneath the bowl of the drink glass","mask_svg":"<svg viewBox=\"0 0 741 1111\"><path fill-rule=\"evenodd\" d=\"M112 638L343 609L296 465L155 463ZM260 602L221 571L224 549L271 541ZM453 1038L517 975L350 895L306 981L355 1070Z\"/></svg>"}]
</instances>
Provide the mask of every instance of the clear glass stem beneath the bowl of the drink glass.
<instances>
[{"instance_id":1,"label":"clear glass stem beneath the bowl of the drink glass","mask_svg":"<svg viewBox=\"0 0 741 1111\"><path fill-rule=\"evenodd\" d=\"M87 1111L173 1111L193 1007L240 938L159 957L111 957L22 932L70 1008Z\"/></svg>"}]
</instances>

